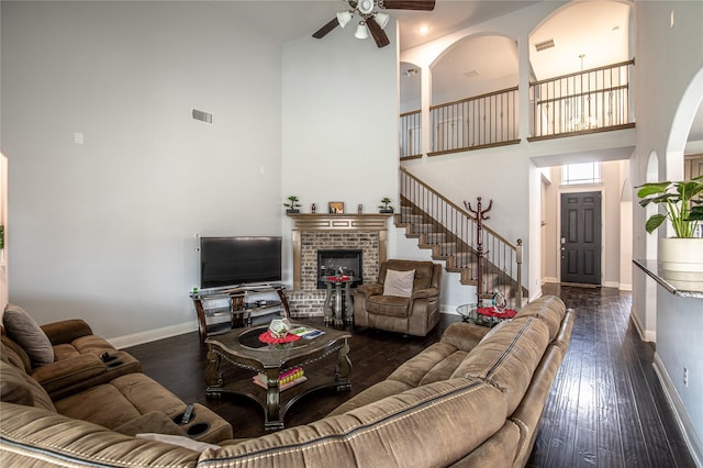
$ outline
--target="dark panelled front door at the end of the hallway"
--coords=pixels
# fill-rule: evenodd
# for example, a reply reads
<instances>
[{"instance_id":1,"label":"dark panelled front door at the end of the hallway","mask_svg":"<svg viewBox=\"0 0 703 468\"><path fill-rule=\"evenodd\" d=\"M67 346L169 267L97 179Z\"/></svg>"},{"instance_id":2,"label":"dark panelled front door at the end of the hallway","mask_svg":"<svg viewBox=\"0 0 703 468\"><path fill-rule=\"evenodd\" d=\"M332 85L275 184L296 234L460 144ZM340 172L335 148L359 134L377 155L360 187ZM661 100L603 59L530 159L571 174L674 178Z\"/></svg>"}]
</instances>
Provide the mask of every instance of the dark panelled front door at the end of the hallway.
<instances>
[{"instance_id":1,"label":"dark panelled front door at the end of the hallway","mask_svg":"<svg viewBox=\"0 0 703 468\"><path fill-rule=\"evenodd\" d=\"M561 282L601 283L601 192L561 193Z\"/></svg>"}]
</instances>

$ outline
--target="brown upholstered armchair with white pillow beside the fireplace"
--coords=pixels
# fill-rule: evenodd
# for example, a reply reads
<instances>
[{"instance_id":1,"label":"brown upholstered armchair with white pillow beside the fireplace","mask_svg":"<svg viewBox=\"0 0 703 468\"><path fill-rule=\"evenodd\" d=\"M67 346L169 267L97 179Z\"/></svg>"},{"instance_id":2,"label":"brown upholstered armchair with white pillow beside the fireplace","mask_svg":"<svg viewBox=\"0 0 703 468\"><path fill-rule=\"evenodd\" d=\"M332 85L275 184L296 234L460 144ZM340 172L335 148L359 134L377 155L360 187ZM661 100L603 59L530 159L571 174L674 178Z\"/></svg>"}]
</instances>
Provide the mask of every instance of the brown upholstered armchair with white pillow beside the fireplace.
<instances>
[{"instance_id":1,"label":"brown upholstered armchair with white pillow beside the fireplace","mask_svg":"<svg viewBox=\"0 0 703 468\"><path fill-rule=\"evenodd\" d=\"M442 265L391 259L378 279L357 288L355 325L425 336L439 322Z\"/></svg>"}]
</instances>

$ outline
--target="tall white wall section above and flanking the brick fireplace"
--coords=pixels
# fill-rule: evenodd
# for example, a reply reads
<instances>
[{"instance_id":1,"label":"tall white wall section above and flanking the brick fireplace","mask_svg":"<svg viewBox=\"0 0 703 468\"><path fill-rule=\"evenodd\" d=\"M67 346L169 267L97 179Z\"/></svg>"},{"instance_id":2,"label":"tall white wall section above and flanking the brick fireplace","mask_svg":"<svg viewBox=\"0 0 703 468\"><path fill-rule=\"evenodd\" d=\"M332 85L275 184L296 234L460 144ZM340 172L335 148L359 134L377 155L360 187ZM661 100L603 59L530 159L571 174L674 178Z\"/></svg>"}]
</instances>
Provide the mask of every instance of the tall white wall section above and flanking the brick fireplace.
<instances>
[{"instance_id":1,"label":"tall white wall section above and flanking the brick fireplace","mask_svg":"<svg viewBox=\"0 0 703 468\"><path fill-rule=\"evenodd\" d=\"M324 213L331 201L344 202L347 213L359 204L377 213L383 197L398 208L395 23L386 31L393 38L380 49L347 30L283 45L282 196L298 196L303 213L311 203ZM289 274L290 226L284 219ZM392 236L388 247L390 257Z\"/></svg>"}]
</instances>

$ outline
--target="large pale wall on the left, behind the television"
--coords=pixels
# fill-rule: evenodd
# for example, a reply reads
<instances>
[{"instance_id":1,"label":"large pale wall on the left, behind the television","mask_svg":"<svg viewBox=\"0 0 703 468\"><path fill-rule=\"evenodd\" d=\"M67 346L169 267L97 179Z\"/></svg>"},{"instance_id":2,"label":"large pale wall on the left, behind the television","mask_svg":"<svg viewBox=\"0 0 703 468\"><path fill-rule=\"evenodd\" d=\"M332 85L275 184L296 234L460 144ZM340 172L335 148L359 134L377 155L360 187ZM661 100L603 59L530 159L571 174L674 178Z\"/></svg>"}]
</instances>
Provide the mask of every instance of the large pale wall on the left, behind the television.
<instances>
[{"instance_id":1,"label":"large pale wall on the left, behind the television","mask_svg":"<svg viewBox=\"0 0 703 468\"><path fill-rule=\"evenodd\" d=\"M281 49L235 25L209 2L2 2L10 300L37 322L194 330L194 234L280 234Z\"/></svg>"}]
</instances>

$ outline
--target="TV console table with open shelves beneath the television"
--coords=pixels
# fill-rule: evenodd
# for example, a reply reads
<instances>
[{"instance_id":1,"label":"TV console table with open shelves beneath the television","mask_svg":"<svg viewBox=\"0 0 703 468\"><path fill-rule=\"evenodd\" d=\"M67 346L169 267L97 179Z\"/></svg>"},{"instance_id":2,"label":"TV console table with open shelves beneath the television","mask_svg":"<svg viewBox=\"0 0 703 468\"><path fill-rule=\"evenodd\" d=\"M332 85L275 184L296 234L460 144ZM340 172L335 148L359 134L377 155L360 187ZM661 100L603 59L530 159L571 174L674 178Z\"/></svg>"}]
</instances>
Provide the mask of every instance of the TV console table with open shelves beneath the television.
<instances>
[{"instance_id":1,"label":"TV console table with open shelves beneath the television","mask_svg":"<svg viewBox=\"0 0 703 468\"><path fill-rule=\"evenodd\" d=\"M217 332L228 332L232 328L239 328L243 326L249 326L252 324L252 316L265 315L277 311L282 311L287 319L290 319L290 309L288 305L288 298L283 291L284 285L270 283L270 285L243 285L235 288L217 289L196 291L190 293L190 298L196 307L196 313L198 314L198 331L200 333L200 339L205 338ZM280 301L247 301L256 296L267 294L276 292ZM226 300L226 307L209 308L207 303L216 300ZM208 319L214 319L217 316L230 317L230 328L221 330L208 330ZM211 327L212 328L212 327Z\"/></svg>"}]
</instances>

